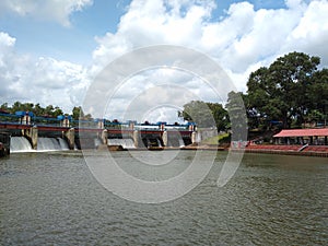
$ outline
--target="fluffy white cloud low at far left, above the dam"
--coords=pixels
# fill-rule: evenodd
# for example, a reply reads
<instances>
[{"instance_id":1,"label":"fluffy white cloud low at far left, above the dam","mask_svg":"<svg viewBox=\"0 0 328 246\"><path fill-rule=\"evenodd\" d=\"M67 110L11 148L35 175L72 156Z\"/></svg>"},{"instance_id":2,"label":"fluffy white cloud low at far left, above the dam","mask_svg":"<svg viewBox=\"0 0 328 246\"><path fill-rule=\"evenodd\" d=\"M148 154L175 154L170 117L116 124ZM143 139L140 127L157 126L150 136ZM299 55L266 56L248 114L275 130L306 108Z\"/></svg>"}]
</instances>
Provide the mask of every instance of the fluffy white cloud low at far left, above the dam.
<instances>
[{"instance_id":1,"label":"fluffy white cloud low at far left, above the dam","mask_svg":"<svg viewBox=\"0 0 328 246\"><path fill-rule=\"evenodd\" d=\"M0 33L0 99L58 105L70 112L83 101L90 83L86 69L52 58L33 58L14 51L15 39Z\"/></svg>"}]
</instances>

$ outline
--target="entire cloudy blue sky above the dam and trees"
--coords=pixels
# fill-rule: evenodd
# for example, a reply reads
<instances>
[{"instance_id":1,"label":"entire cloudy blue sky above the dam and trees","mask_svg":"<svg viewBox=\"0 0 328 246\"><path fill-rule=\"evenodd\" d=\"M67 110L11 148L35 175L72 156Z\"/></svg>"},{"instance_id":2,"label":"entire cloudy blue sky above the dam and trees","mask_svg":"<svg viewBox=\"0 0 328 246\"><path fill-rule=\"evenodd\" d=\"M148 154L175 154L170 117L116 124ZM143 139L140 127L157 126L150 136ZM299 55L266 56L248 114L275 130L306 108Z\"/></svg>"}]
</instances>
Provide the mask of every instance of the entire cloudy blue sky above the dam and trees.
<instances>
[{"instance_id":1,"label":"entire cloudy blue sky above the dam and trees","mask_svg":"<svg viewBox=\"0 0 328 246\"><path fill-rule=\"evenodd\" d=\"M174 62L93 85L114 61L157 45L206 55L242 92L251 71L291 51L328 67L327 13L327 0L2 0L0 104L70 114L98 90L96 108L85 108L94 117L178 121L191 99L224 103L220 89Z\"/></svg>"}]
</instances>

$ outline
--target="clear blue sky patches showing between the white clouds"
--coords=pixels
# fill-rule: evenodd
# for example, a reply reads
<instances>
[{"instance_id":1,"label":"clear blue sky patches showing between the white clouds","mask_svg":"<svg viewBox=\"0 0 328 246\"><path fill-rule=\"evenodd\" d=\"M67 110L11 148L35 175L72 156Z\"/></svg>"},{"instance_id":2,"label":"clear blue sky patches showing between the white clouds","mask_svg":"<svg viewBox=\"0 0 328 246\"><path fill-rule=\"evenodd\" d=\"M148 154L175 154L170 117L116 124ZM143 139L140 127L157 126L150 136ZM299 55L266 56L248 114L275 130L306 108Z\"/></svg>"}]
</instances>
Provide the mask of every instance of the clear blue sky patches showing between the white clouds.
<instances>
[{"instance_id":1,"label":"clear blue sky patches showing between the white clouds","mask_svg":"<svg viewBox=\"0 0 328 246\"><path fill-rule=\"evenodd\" d=\"M226 15L232 3L243 0L215 1L212 21ZM130 0L94 0L92 5L69 16L71 26L63 26L54 20L39 20L9 12L0 15L0 28L16 38L19 52L49 56L72 62L91 61L96 48L95 36L115 33L120 16L127 12ZM255 10L285 8L283 0L251 0Z\"/></svg>"}]
</instances>

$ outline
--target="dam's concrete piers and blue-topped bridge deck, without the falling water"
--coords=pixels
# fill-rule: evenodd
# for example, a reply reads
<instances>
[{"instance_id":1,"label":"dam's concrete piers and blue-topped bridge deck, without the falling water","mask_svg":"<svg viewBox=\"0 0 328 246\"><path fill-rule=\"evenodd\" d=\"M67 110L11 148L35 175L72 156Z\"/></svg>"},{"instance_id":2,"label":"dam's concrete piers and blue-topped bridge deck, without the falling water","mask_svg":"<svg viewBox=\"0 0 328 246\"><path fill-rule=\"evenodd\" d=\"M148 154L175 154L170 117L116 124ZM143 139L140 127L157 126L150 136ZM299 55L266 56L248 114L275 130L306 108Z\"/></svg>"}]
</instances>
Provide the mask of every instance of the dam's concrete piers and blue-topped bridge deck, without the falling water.
<instances>
[{"instance_id":1,"label":"dam's concrete piers and blue-topped bridge deck, without the falling water","mask_svg":"<svg viewBox=\"0 0 328 246\"><path fill-rule=\"evenodd\" d=\"M19 112L16 115L5 115L5 120L12 117L12 121L1 121L0 129L11 131L13 136L22 136L28 139L34 150L37 150L38 137L62 138L69 149L97 148L108 145L108 139L131 139L134 148L176 147L188 145L197 142L195 125L166 125L157 124L127 124L112 122L104 119L78 121L79 127L72 127L70 116L57 118L34 117L32 113ZM17 120L19 118L19 120ZM45 125L49 122L49 125ZM77 126L75 122L73 122Z\"/></svg>"}]
</instances>

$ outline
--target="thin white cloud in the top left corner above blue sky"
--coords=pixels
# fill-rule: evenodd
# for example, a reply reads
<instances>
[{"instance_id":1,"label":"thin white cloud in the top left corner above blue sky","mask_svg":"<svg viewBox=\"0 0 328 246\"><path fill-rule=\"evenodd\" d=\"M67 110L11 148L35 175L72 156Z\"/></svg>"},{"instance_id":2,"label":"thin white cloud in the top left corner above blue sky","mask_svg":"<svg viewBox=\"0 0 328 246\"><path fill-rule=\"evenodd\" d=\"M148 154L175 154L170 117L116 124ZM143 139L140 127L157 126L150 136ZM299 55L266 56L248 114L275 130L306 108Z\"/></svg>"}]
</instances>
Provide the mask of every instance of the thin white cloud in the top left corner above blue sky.
<instances>
[{"instance_id":1,"label":"thin white cloud in the top left corner above blue sky","mask_svg":"<svg viewBox=\"0 0 328 246\"><path fill-rule=\"evenodd\" d=\"M12 12L21 16L56 21L61 25L70 26L70 14L92 3L93 0L1 0L0 14Z\"/></svg>"}]
</instances>

